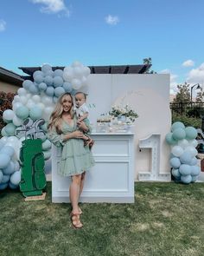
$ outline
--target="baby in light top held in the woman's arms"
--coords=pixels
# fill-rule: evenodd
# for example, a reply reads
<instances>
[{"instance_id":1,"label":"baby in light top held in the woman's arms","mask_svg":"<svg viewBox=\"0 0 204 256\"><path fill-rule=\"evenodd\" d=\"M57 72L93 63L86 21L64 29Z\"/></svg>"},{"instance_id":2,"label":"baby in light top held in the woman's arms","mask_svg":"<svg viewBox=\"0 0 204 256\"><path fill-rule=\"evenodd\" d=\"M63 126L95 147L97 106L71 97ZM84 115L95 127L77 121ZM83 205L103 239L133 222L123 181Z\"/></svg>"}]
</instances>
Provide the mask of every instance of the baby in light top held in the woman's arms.
<instances>
[{"instance_id":1,"label":"baby in light top held in the woman's arms","mask_svg":"<svg viewBox=\"0 0 204 256\"><path fill-rule=\"evenodd\" d=\"M77 123L80 121L85 121L89 114L89 109L86 105L86 94L82 92L78 92L74 95L75 97L75 112L77 115ZM88 121L89 122L89 121ZM86 135L87 139L85 141L85 146L89 146L89 148L92 148L93 140L88 135Z\"/></svg>"}]
</instances>

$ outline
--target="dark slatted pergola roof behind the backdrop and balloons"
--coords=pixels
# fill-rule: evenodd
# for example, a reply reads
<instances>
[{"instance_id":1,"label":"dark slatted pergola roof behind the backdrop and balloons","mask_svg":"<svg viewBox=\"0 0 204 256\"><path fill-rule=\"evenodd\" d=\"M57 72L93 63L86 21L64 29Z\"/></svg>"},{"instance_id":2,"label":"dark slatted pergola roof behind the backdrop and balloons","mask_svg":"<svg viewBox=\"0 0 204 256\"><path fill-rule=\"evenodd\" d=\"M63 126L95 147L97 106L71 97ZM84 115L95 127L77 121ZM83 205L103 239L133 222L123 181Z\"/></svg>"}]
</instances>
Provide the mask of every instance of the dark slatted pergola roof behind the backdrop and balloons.
<instances>
[{"instance_id":1,"label":"dark slatted pergola roof behind the backdrop and balloons","mask_svg":"<svg viewBox=\"0 0 204 256\"><path fill-rule=\"evenodd\" d=\"M91 74L143 74L150 68L151 65L116 65L116 66L89 66ZM53 67L55 69L64 69L65 67ZM36 70L41 70L41 67L19 67L28 75L33 75Z\"/></svg>"}]
</instances>

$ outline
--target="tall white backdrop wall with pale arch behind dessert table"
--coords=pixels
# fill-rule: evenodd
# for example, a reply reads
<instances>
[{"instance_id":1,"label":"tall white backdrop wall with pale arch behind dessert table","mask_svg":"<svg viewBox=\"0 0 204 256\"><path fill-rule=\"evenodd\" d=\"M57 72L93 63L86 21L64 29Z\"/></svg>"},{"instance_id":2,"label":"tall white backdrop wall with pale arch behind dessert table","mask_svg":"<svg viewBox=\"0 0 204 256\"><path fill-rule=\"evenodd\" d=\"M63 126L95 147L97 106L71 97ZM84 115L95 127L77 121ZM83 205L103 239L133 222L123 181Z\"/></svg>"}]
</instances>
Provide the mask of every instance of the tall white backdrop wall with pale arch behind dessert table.
<instances>
[{"instance_id":1,"label":"tall white backdrop wall with pale arch behind dessert table","mask_svg":"<svg viewBox=\"0 0 204 256\"><path fill-rule=\"evenodd\" d=\"M100 114L107 113L112 105L131 105L139 117L135 122L135 180L139 172L150 171L150 149L139 150L138 142L151 134L161 135L160 172L170 173L169 146L165 135L171 126L169 109L169 75L89 75L88 87L81 89L88 94L89 119L96 124Z\"/></svg>"}]
</instances>

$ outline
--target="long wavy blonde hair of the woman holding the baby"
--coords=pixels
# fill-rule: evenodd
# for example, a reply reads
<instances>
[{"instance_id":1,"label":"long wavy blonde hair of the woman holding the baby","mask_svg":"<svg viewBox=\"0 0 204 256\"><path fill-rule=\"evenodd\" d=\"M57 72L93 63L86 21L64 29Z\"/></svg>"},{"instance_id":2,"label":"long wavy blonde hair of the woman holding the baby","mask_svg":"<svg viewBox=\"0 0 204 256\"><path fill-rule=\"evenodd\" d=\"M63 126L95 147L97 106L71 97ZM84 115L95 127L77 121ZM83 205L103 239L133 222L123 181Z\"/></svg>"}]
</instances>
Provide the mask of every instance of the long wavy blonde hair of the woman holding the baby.
<instances>
[{"instance_id":1,"label":"long wavy blonde hair of the woman holding the baby","mask_svg":"<svg viewBox=\"0 0 204 256\"><path fill-rule=\"evenodd\" d=\"M62 104L64 102L67 102L67 99L66 99L67 95L69 95L72 99L72 107L69 110L69 114L73 118L73 97L70 93L65 93L65 94L61 95L58 102L56 103L54 111L50 115L49 122L48 122L48 130L51 130L52 128L55 128L56 132L58 134L61 134L61 121L62 121L62 114L63 114Z\"/></svg>"}]
</instances>

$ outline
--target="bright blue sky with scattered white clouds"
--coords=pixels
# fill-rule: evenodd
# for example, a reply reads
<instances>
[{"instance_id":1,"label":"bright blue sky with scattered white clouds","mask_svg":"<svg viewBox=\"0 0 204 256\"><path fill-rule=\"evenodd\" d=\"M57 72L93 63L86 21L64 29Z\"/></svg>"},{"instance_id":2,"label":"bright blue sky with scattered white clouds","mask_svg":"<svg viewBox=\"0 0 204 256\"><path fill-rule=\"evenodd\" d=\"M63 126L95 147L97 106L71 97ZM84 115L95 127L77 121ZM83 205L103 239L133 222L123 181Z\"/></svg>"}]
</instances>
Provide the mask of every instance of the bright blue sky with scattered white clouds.
<instances>
[{"instance_id":1,"label":"bright blue sky with scattered white clouds","mask_svg":"<svg viewBox=\"0 0 204 256\"><path fill-rule=\"evenodd\" d=\"M204 86L203 0L1 0L0 66L137 65Z\"/></svg>"}]
</instances>

